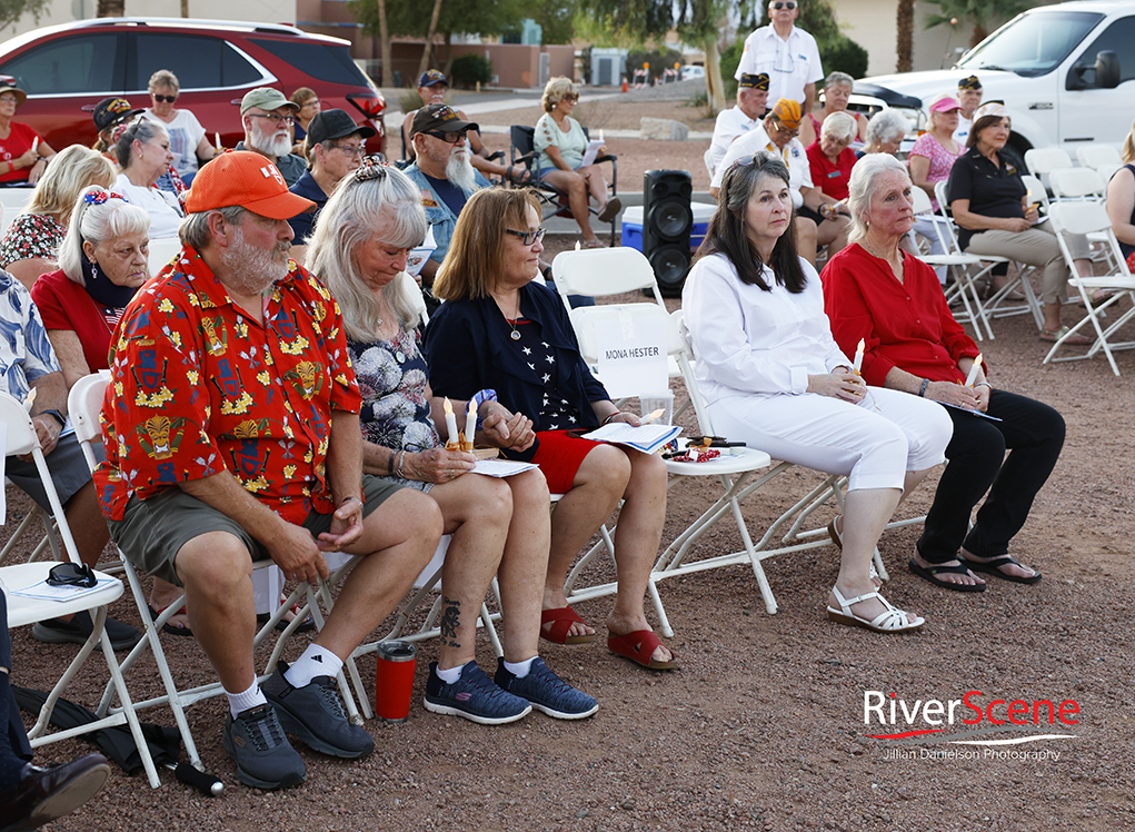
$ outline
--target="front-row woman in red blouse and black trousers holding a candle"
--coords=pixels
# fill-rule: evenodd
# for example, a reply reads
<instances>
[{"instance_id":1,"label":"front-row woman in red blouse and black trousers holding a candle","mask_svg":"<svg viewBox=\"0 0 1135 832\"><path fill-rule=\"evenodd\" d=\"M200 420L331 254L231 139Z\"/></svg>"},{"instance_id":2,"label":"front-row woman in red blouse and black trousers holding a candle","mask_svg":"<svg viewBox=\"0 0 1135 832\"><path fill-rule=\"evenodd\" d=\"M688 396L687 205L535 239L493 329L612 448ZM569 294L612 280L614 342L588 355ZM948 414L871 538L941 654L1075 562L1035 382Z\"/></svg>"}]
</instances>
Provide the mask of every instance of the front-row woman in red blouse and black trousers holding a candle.
<instances>
[{"instance_id":1,"label":"front-row woman in red blouse and black trousers holding a candle","mask_svg":"<svg viewBox=\"0 0 1135 832\"><path fill-rule=\"evenodd\" d=\"M953 421L945 448L949 464L910 571L962 593L985 588L974 572L1035 583L1041 573L1017 563L1008 554L1009 541L1056 465L1063 419L1046 404L993 389L984 367L966 384L977 346L950 314L933 269L899 250L914 221L911 188L902 162L889 154L856 165L849 196L855 244L824 268L824 309L846 353L852 354L863 339L868 385L941 402ZM986 490L967 533L973 509Z\"/></svg>"}]
</instances>

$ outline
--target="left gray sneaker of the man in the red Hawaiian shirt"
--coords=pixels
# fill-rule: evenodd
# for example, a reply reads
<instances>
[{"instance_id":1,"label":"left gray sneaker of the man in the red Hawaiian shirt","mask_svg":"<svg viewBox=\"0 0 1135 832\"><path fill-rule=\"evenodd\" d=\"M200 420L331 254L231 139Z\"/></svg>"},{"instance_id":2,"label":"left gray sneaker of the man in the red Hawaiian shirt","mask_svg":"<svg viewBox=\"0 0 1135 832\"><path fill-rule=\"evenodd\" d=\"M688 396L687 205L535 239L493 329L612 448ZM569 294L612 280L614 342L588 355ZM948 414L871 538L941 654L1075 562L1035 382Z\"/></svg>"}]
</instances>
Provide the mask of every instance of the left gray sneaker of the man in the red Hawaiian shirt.
<instances>
[{"instance_id":1,"label":"left gray sneaker of the man in the red Hawaiian shirt","mask_svg":"<svg viewBox=\"0 0 1135 832\"><path fill-rule=\"evenodd\" d=\"M287 741L271 704L225 718L225 750L236 760L236 779L258 789L299 785L308 779L300 755Z\"/></svg>"}]
</instances>

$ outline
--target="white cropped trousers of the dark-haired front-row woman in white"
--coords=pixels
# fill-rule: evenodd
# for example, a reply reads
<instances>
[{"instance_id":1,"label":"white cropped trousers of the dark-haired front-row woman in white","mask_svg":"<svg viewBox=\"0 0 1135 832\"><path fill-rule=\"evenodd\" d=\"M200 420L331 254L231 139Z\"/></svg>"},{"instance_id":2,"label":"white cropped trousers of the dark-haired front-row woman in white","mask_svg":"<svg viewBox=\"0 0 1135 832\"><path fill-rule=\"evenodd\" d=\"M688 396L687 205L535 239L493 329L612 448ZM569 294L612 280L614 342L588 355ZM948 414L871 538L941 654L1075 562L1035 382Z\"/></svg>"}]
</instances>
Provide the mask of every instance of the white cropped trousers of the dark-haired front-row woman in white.
<instances>
[{"instance_id":1,"label":"white cropped trousers of the dark-haired front-row woman in white","mask_svg":"<svg viewBox=\"0 0 1135 832\"><path fill-rule=\"evenodd\" d=\"M831 396L730 396L709 405L714 431L775 460L848 478L848 490L902 488L907 471L945 461L953 423L945 407L868 387L851 404Z\"/></svg>"}]
</instances>

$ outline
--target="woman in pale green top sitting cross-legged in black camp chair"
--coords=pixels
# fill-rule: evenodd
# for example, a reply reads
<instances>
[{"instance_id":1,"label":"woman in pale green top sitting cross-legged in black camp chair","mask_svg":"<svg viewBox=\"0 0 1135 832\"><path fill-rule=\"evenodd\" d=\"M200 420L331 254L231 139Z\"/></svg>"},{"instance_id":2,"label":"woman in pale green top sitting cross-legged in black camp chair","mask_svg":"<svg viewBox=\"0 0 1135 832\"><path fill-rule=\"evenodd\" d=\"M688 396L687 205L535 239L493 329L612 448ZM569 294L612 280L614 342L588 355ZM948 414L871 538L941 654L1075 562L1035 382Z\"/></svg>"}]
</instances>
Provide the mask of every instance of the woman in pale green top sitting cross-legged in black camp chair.
<instances>
[{"instance_id":1,"label":"woman in pale green top sitting cross-legged in black camp chair","mask_svg":"<svg viewBox=\"0 0 1135 832\"><path fill-rule=\"evenodd\" d=\"M622 210L617 196L607 199L607 183L598 165L581 167L588 140L583 127L571 117L579 103L579 87L570 78L552 78L544 87L544 115L536 123L532 148L540 154L540 178L568 193L572 217L583 234L588 249L602 249L603 243L591 230L588 199L599 210L596 219L609 222Z\"/></svg>"}]
</instances>

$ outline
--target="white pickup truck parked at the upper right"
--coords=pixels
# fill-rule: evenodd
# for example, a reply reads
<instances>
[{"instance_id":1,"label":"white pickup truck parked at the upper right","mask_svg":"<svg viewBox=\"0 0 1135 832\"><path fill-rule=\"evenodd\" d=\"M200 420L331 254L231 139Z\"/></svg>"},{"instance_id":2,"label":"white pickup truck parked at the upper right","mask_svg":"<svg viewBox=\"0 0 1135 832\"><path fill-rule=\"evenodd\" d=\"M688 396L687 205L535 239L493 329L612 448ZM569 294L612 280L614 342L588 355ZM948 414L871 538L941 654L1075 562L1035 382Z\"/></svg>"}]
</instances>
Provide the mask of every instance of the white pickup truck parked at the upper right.
<instances>
[{"instance_id":1,"label":"white pickup truck parked at the upper right","mask_svg":"<svg viewBox=\"0 0 1135 832\"><path fill-rule=\"evenodd\" d=\"M952 69L881 75L855 83L849 108L894 107L925 129L926 107L976 75L983 101L1012 115L1009 144L1063 148L1075 159L1087 143L1119 148L1135 119L1135 2L1077 0L1018 15L967 52Z\"/></svg>"}]
</instances>

